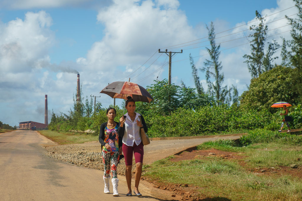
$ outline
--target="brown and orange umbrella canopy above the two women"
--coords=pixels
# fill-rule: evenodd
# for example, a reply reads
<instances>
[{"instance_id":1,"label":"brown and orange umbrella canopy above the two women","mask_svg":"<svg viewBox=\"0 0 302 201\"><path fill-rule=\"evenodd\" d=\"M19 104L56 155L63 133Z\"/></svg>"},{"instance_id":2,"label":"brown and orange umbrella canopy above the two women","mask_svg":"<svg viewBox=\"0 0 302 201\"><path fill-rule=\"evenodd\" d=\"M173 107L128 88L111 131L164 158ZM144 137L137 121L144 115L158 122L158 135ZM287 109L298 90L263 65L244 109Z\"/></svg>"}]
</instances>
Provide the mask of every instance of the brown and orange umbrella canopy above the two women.
<instances>
[{"instance_id":1,"label":"brown and orange umbrella canopy above the two women","mask_svg":"<svg viewBox=\"0 0 302 201\"><path fill-rule=\"evenodd\" d=\"M151 102L149 92L142 86L133 82L113 82L106 86L100 93L105 93L111 98L127 99L131 96L134 101Z\"/></svg>"}]
</instances>

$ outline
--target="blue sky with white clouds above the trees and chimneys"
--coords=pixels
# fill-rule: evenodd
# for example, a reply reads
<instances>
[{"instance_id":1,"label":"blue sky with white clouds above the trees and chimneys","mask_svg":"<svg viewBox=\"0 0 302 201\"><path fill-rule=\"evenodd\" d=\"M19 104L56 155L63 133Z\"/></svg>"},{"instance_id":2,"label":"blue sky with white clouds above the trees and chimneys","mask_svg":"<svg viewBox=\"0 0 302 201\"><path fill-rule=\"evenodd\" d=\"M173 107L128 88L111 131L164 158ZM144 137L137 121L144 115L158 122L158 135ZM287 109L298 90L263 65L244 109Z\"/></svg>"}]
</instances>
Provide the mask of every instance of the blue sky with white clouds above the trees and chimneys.
<instances>
[{"instance_id":1,"label":"blue sky with white clouds above the trees and chimneys","mask_svg":"<svg viewBox=\"0 0 302 201\"><path fill-rule=\"evenodd\" d=\"M113 99L99 93L108 83L128 81L146 87L168 79L195 88L189 54L198 69L209 59L207 28L214 23L224 85L247 90L251 75L243 55L250 54L249 27L255 11L265 17L268 42L290 39L284 16L297 18L291 0L0 0L0 121L44 123L69 113L76 95L77 73L83 96L97 97L104 108ZM274 64L280 64L279 56ZM198 76L207 89L205 73ZM93 99L94 100L94 99ZM116 104L121 105L117 99Z\"/></svg>"}]
</instances>

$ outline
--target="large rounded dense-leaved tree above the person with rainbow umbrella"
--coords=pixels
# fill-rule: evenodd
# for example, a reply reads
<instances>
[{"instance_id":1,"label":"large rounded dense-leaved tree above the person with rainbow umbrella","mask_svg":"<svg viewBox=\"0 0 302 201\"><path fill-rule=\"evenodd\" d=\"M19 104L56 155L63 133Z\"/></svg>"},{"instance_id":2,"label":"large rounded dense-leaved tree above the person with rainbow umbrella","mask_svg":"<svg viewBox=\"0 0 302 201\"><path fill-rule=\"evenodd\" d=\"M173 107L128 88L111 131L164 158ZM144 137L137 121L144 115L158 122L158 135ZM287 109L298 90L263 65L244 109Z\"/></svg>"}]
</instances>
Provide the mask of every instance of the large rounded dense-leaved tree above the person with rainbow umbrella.
<instances>
[{"instance_id":1,"label":"large rounded dense-leaved tree above the person with rainbow umbrella","mask_svg":"<svg viewBox=\"0 0 302 201\"><path fill-rule=\"evenodd\" d=\"M249 90L240 96L240 106L255 109L255 112L269 108L271 113L275 113L278 108L270 107L275 102L285 101L296 104L299 99L294 89L297 80L293 75L296 73L297 69L277 66L252 79Z\"/></svg>"}]
</instances>

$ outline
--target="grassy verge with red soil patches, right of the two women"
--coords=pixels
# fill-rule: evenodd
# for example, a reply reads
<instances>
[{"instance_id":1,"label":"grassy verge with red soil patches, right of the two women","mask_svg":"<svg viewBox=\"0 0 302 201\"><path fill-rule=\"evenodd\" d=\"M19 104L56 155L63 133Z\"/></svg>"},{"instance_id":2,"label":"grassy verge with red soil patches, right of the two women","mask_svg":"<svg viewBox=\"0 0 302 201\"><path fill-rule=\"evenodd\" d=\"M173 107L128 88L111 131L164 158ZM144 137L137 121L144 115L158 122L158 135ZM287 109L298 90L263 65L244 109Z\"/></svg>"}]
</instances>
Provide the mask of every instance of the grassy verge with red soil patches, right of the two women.
<instances>
[{"instance_id":1,"label":"grassy verge with red soil patches, right of the two women","mask_svg":"<svg viewBox=\"0 0 302 201\"><path fill-rule=\"evenodd\" d=\"M170 156L144 166L143 177L163 187L188 184L183 188L187 191L194 189L197 194L193 199L195 196L217 200L301 200L301 144L301 136L253 130L238 141L209 141L197 147L198 150L229 152L239 159L206 155L175 162L172 160L174 156ZM300 168L296 169L296 175L291 175L290 171L258 173L265 169L279 170L280 167L292 169L292 164Z\"/></svg>"}]
</instances>

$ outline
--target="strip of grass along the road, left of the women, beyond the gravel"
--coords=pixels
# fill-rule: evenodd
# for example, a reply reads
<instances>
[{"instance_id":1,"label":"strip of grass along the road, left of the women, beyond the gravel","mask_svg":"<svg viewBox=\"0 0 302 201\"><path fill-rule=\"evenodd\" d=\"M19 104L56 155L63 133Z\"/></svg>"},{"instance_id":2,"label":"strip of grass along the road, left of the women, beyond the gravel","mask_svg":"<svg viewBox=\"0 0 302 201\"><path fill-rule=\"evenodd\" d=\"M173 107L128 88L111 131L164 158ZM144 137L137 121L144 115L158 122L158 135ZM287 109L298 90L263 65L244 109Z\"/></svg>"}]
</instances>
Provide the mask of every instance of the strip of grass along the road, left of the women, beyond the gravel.
<instances>
[{"instance_id":1,"label":"strip of grass along the road, left of the women, beyond the gravel","mask_svg":"<svg viewBox=\"0 0 302 201\"><path fill-rule=\"evenodd\" d=\"M79 144L98 140L98 136L86 133L57 132L53 130L39 130L38 132L59 144Z\"/></svg>"}]
</instances>

